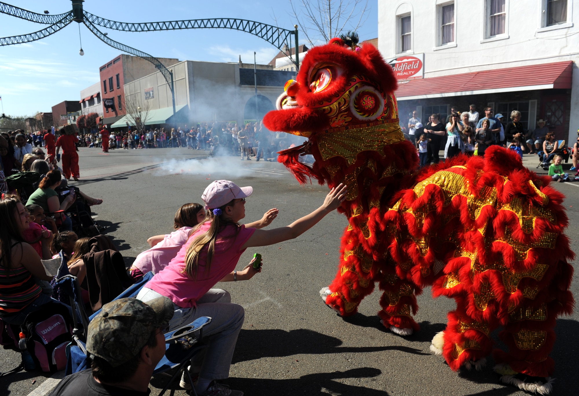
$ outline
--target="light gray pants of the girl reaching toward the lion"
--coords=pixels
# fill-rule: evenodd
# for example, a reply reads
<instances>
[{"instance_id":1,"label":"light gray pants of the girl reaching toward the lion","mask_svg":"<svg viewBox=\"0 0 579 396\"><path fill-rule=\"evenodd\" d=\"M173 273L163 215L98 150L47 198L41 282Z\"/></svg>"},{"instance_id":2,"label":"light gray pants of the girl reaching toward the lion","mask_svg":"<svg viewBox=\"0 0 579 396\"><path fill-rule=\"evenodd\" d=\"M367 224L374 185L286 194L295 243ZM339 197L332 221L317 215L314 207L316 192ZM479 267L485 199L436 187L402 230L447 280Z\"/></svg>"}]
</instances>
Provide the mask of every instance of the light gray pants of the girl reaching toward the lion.
<instances>
[{"instance_id":1,"label":"light gray pants of the girl reaching toward the lion","mask_svg":"<svg viewBox=\"0 0 579 396\"><path fill-rule=\"evenodd\" d=\"M144 287L137 299L147 302L159 296L156 291ZM203 328L203 342L208 347L204 354L198 354L192 362L192 366L201 365L199 377L209 380L229 378L229 366L245 318L243 307L232 304L231 296L222 289L210 289L197 301L196 307L181 308L173 305L175 314L169 322L170 331L188 325L201 316L211 318L211 323ZM197 362L201 357L203 362Z\"/></svg>"}]
</instances>

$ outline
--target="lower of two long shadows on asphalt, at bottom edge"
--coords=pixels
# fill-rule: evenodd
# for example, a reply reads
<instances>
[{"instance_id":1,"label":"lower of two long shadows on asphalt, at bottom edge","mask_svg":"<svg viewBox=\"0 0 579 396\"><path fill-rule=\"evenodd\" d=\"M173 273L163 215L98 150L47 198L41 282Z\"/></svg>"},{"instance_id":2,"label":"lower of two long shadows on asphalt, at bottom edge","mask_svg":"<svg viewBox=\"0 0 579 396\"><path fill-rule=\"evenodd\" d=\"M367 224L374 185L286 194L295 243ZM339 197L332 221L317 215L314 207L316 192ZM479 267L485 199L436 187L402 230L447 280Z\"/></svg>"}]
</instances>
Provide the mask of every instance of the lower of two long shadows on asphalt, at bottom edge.
<instances>
[{"instance_id":1,"label":"lower of two long shadows on asphalt, at bottom edge","mask_svg":"<svg viewBox=\"0 0 579 396\"><path fill-rule=\"evenodd\" d=\"M230 377L219 381L231 389L243 390L247 395L307 395L307 396L388 396L388 393L363 386L340 382L340 379L364 379L362 382L374 382L382 371L372 367L362 367L347 371L331 373L316 373L295 379L256 379ZM167 385L168 376L157 376L151 380L151 385L162 389ZM181 390L177 378L168 390Z\"/></svg>"}]
</instances>

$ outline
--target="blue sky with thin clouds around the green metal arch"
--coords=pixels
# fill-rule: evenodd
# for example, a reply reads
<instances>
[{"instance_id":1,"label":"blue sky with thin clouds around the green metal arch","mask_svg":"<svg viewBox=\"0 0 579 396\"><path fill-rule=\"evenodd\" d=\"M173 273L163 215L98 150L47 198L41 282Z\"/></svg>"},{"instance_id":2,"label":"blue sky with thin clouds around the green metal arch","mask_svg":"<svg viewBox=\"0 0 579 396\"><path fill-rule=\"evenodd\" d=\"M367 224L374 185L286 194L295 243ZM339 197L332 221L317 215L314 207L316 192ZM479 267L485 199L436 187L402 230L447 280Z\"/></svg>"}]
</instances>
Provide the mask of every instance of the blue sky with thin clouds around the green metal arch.
<instances>
[{"instance_id":1,"label":"blue sky with thin clouds around the green metal arch","mask_svg":"<svg viewBox=\"0 0 579 396\"><path fill-rule=\"evenodd\" d=\"M43 13L67 12L69 0L4 0L7 3ZM369 0L368 19L358 29L361 40L378 36L378 0ZM251 0L152 1L87 0L84 9L115 21L146 22L181 19L234 17L275 24L292 29L290 2ZM46 25L0 14L0 36L28 34ZM245 32L234 30L184 30L164 32L120 32L105 30L109 37L156 57L228 62L239 55L246 63L267 63L278 52L276 47ZM73 22L63 30L40 41L0 47L0 96L8 115L33 115L51 111L63 100L79 100L80 90L99 81L98 67L120 52L101 42L84 25L80 25L84 56L79 56L79 24ZM300 44L305 43L301 36Z\"/></svg>"}]
</instances>

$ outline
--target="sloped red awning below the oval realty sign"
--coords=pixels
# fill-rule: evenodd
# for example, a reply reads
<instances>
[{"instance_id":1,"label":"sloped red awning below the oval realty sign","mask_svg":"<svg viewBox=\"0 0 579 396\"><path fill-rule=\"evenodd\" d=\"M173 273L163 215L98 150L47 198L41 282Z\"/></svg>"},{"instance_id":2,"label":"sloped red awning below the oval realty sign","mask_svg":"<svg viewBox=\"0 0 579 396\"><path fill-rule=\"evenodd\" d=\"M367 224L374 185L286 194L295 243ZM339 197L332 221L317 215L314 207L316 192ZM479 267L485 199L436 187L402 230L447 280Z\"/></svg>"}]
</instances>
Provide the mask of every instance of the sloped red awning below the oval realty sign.
<instances>
[{"instance_id":1,"label":"sloped red awning below the oval realty sign","mask_svg":"<svg viewBox=\"0 0 579 396\"><path fill-rule=\"evenodd\" d=\"M401 100L478 95L485 93L570 89L573 61L545 63L398 83Z\"/></svg>"}]
</instances>

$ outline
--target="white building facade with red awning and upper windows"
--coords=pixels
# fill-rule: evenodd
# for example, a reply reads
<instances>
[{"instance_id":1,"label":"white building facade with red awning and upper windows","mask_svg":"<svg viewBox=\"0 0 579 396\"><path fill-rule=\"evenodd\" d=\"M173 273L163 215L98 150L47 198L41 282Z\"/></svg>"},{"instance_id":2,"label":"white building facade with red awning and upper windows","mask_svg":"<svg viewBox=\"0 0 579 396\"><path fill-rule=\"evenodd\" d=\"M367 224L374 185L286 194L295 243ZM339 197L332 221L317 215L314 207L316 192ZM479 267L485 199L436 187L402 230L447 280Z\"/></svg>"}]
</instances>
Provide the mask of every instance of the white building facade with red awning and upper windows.
<instances>
[{"instance_id":1,"label":"white building facade with red awning and upper windows","mask_svg":"<svg viewBox=\"0 0 579 396\"><path fill-rule=\"evenodd\" d=\"M574 4L575 2L575 4ZM401 124L470 104L547 121L572 145L579 127L576 0L379 0L379 50L396 69ZM422 63L421 63L422 62ZM416 68L404 72L403 69ZM420 66L420 67L419 67Z\"/></svg>"}]
</instances>

